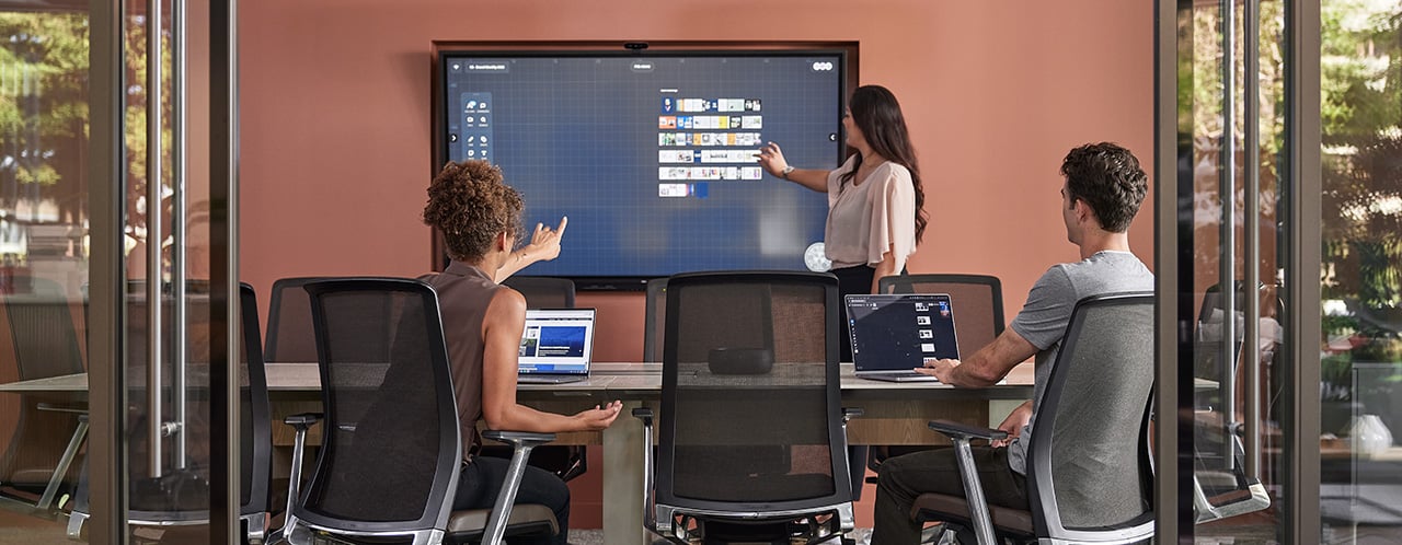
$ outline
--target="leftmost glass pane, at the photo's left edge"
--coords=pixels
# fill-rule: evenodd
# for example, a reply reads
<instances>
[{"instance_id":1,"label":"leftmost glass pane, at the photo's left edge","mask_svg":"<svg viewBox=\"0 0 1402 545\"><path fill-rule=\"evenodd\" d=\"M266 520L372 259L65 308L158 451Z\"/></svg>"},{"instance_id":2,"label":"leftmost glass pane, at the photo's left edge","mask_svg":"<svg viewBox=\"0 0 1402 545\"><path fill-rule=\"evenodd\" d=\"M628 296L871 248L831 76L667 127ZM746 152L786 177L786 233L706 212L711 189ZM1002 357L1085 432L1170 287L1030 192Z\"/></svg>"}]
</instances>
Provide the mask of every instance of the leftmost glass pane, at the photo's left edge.
<instances>
[{"instance_id":1,"label":"leftmost glass pane, at the photo's left edge","mask_svg":"<svg viewBox=\"0 0 1402 545\"><path fill-rule=\"evenodd\" d=\"M88 14L0 3L0 382L87 368ZM0 392L0 544L63 538L86 384Z\"/></svg>"}]
</instances>

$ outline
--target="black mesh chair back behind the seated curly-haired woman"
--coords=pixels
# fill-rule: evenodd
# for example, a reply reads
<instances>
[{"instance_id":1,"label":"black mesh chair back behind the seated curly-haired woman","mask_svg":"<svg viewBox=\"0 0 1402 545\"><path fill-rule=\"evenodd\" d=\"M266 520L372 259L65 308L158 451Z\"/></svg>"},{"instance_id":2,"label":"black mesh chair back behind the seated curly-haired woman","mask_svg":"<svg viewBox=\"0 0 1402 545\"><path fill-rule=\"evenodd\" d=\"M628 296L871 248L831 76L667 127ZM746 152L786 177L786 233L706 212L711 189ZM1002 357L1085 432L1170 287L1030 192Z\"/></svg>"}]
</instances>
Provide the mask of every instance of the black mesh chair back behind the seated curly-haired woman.
<instances>
[{"instance_id":1,"label":"black mesh chair back behind the seated curly-haired woman","mask_svg":"<svg viewBox=\"0 0 1402 545\"><path fill-rule=\"evenodd\" d=\"M461 444L433 289L338 279L306 290L327 432L293 514L348 531L443 528ZM383 338L366 339L369 331Z\"/></svg>"}]
</instances>

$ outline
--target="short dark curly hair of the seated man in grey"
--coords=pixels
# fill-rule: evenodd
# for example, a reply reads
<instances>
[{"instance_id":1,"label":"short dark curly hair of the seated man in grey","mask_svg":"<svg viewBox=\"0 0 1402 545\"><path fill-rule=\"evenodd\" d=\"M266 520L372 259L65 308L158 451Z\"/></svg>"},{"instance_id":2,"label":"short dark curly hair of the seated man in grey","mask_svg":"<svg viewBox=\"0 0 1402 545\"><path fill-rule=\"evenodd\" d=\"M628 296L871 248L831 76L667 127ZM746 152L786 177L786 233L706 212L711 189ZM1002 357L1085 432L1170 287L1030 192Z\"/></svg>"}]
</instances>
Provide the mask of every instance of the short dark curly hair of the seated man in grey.
<instances>
[{"instance_id":1,"label":"short dark curly hair of the seated man in grey","mask_svg":"<svg viewBox=\"0 0 1402 545\"><path fill-rule=\"evenodd\" d=\"M1102 142L1071 150L1061 161L1067 198L1084 200L1110 233L1124 233L1148 193L1148 175L1130 150Z\"/></svg>"}]
</instances>

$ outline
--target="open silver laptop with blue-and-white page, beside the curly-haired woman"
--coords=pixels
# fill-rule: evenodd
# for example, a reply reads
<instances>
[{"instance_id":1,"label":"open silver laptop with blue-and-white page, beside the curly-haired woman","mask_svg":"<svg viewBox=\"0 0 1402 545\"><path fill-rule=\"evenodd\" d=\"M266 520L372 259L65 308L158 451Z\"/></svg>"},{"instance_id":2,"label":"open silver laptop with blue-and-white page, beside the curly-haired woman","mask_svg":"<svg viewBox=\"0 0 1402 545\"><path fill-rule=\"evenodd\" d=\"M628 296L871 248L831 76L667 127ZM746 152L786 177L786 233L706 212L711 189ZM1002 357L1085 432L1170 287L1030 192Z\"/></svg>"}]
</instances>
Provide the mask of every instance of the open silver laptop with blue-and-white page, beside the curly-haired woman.
<instances>
[{"instance_id":1,"label":"open silver laptop with blue-and-white page, beside the curly-haired woman","mask_svg":"<svg viewBox=\"0 0 1402 545\"><path fill-rule=\"evenodd\" d=\"M530 308L517 354L516 382L565 384L589 378L593 308Z\"/></svg>"}]
</instances>

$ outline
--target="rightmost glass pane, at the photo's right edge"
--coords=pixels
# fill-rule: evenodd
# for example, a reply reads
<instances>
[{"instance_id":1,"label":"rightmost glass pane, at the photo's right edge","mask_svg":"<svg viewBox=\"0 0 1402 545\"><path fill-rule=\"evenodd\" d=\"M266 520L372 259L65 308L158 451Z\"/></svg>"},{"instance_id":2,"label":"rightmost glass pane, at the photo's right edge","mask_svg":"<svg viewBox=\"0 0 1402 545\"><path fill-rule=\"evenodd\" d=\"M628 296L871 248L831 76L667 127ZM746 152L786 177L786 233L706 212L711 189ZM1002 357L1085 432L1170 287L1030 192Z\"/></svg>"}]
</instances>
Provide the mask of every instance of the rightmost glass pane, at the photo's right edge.
<instances>
[{"instance_id":1,"label":"rightmost glass pane, at the photo's right edge","mask_svg":"<svg viewBox=\"0 0 1402 545\"><path fill-rule=\"evenodd\" d=\"M1319 15L1321 541L1402 542L1402 4Z\"/></svg>"}]
</instances>

